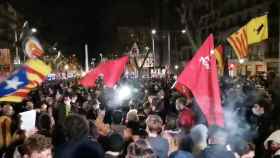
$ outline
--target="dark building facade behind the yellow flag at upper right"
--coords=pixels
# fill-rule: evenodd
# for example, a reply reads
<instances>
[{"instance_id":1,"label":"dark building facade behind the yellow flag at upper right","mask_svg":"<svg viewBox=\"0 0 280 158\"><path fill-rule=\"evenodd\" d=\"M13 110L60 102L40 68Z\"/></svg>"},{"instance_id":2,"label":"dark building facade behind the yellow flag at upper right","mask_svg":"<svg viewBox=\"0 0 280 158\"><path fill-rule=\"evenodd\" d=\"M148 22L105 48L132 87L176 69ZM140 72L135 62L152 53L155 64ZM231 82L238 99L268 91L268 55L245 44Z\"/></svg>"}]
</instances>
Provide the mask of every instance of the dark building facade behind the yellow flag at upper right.
<instances>
[{"instance_id":1,"label":"dark building facade behind the yellow flag at upper right","mask_svg":"<svg viewBox=\"0 0 280 158\"><path fill-rule=\"evenodd\" d=\"M213 33L216 45L223 44L229 61L241 68L242 75L256 75L267 71L277 71L279 60L279 8L273 0L235 0L215 1L224 3L200 18L202 39ZM247 62L239 64L232 47L226 41L232 33L238 31L250 19L268 15L268 40L249 46Z\"/></svg>"}]
</instances>

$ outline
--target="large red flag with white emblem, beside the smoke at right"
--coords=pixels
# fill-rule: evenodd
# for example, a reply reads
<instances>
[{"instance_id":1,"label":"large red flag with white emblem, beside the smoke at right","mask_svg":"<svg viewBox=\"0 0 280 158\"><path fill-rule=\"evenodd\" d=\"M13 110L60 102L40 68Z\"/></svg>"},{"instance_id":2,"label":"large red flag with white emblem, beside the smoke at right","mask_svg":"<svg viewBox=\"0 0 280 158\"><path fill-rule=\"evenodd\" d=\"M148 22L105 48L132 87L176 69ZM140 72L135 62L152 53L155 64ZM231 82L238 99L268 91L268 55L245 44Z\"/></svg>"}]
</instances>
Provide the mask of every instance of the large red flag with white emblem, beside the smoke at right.
<instances>
[{"instance_id":1,"label":"large red flag with white emblem, beside the smoke at right","mask_svg":"<svg viewBox=\"0 0 280 158\"><path fill-rule=\"evenodd\" d=\"M224 126L212 34L185 66L177 83L191 90L209 125Z\"/></svg>"}]
</instances>

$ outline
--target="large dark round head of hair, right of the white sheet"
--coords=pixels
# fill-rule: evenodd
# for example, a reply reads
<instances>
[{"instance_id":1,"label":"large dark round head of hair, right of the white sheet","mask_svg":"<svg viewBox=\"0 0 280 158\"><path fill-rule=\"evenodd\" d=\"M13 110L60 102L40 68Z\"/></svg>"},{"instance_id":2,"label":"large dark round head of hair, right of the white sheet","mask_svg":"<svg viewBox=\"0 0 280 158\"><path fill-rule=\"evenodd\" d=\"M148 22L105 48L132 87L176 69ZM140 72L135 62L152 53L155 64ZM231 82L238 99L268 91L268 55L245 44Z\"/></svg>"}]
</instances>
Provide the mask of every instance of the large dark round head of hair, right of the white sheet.
<instances>
[{"instance_id":1,"label":"large dark round head of hair, right of the white sheet","mask_svg":"<svg viewBox=\"0 0 280 158\"><path fill-rule=\"evenodd\" d=\"M69 115L63 125L68 141L78 141L89 135L89 124L85 117L78 114Z\"/></svg>"}]
</instances>

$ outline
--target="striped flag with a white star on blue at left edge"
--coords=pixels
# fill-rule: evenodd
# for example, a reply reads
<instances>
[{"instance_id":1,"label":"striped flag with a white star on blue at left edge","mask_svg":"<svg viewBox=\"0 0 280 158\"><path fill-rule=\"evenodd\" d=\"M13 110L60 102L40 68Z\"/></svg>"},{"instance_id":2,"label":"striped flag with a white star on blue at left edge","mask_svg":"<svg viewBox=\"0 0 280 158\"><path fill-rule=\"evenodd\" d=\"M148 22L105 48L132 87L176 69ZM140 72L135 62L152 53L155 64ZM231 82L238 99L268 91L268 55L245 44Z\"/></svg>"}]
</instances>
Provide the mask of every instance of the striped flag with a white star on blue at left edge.
<instances>
[{"instance_id":1,"label":"striped flag with a white star on blue at left edge","mask_svg":"<svg viewBox=\"0 0 280 158\"><path fill-rule=\"evenodd\" d=\"M39 59L30 59L10 77L0 83L0 101L22 102L28 93L39 86L51 68Z\"/></svg>"}]
</instances>

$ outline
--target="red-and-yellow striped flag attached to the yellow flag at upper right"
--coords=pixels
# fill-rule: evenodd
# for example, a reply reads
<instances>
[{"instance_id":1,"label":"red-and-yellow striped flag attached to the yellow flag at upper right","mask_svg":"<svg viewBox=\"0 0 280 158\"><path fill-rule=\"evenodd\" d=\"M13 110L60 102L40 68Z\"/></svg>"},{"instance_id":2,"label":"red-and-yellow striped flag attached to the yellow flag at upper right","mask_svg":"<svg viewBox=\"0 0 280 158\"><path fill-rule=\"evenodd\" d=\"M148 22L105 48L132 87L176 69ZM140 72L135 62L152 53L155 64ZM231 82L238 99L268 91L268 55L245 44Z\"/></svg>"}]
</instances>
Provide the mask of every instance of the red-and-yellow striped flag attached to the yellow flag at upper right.
<instances>
[{"instance_id":1,"label":"red-and-yellow striped flag attached to the yellow flag at upper right","mask_svg":"<svg viewBox=\"0 0 280 158\"><path fill-rule=\"evenodd\" d=\"M248 49L248 37L245 27L242 27L239 31L233 33L227 38L232 48L235 51L238 59L246 58L249 54Z\"/></svg>"}]
</instances>

